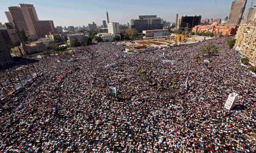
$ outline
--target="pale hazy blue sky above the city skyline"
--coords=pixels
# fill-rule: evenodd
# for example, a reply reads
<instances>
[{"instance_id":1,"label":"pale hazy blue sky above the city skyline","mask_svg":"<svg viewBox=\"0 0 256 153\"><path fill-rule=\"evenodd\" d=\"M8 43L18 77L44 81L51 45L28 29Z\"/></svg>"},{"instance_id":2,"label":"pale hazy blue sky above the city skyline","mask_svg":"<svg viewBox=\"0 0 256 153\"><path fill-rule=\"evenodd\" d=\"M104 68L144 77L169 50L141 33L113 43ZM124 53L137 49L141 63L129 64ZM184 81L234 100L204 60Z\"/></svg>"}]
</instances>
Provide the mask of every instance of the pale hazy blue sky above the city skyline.
<instances>
[{"instance_id":1,"label":"pale hazy blue sky above the city skyline","mask_svg":"<svg viewBox=\"0 0 256 153\"><path fill-rule=\"evenodd\" d=\"M39 20L53 20L55 26L87 26L93 21L100 26L106 20L106 8L110 21L122 24L138 15L157 15L174 22L176 13L223 20L232 0L0 0L0 22L7 22L4 11L19 3L34 4Z\"/></svg>"}]
</instances>

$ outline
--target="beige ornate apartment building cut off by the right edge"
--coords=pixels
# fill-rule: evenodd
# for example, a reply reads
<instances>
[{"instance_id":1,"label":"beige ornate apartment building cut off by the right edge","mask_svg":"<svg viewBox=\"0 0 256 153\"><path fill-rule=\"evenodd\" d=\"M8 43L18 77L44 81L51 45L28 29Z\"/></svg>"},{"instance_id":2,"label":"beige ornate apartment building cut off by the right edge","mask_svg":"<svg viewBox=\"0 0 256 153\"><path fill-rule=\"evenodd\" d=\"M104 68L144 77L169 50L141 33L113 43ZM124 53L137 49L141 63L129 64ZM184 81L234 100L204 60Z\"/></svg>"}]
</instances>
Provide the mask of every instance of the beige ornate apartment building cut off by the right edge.
<instances>
[{"instance_id":1,"label":"beige ornate apartment building cut off by the right edge","mask_svg":"<svg viewBox=\"0 0 256 153\"><path fill-rule=\"evenodd\" d=\"M234 49L250 59L256 65L256 24L241 24L236 33L236 44Z\"/></svg>"}]
</instances>

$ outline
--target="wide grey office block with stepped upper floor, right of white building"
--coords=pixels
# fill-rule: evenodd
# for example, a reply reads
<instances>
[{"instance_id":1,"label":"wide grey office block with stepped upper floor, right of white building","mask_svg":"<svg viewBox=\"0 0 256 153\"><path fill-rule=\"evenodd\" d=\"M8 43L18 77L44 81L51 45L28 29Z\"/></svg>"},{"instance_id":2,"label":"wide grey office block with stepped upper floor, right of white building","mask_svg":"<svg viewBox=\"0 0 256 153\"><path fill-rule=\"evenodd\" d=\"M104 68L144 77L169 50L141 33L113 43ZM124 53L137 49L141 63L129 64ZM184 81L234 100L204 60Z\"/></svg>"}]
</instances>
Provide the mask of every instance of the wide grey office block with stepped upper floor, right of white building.
<instances>
[{"instance_id":1,"label":"wide grey office block with stepped upper floor, right of white building","mask_svg":"<svg viewBox=\"0 0 256 153\"><path fill-rule=\"evenodd\" d=\"M129 29L142 30L163 29L163 20L156 15L139 16L139 19L129 20Z\"/></svg>"}]
</instances>

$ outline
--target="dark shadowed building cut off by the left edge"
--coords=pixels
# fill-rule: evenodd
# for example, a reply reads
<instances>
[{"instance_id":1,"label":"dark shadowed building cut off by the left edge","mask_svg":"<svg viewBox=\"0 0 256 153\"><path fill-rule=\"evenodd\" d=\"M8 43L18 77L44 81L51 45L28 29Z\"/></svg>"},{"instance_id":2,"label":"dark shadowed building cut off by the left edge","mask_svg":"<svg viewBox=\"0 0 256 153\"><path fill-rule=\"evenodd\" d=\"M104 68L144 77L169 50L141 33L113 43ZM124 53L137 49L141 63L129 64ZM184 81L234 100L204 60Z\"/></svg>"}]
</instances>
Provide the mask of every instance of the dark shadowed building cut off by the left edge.
<instances>
[{"instance_id":1,"label":"dark shadowed building cut off by the left edge","mask_svg":"<svg viewBox=\"0 0 256 153\"><path fill-rule=\"evenodd\" d=\"M10 49L0 34L0 66L9 65L11 63L13 63L13 59L10 53Z\"/></svg>"}]
</instances>

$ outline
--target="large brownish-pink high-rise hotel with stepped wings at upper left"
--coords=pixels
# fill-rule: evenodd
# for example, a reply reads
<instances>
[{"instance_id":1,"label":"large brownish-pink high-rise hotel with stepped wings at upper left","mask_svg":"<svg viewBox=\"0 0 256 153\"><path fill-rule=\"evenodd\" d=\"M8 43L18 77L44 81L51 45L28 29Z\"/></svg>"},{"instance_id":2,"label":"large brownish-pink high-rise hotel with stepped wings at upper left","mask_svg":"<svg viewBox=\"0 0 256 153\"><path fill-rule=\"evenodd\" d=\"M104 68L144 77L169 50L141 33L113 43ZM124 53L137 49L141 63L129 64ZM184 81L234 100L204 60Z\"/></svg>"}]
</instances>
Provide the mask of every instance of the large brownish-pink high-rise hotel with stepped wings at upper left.
<instances>
[{"instance_id":1,"label":"large brownish-pink high-rise hotel with stepped wings at upper left","mask_svg":"<svg viewBox=\"0 0 256 153\"><path fill-rule=\"evenodd\" d=\"M38 20L36 9L32 4L18 4L18 6L11 6L8 9L9 11L5 12L8 21L15 23L18 29L24 30L29 39L34 40L44 37L50 32L57 32L53 21Z\"/></svg>"}]
</instances>

